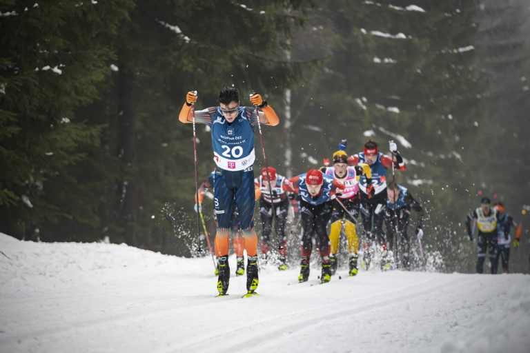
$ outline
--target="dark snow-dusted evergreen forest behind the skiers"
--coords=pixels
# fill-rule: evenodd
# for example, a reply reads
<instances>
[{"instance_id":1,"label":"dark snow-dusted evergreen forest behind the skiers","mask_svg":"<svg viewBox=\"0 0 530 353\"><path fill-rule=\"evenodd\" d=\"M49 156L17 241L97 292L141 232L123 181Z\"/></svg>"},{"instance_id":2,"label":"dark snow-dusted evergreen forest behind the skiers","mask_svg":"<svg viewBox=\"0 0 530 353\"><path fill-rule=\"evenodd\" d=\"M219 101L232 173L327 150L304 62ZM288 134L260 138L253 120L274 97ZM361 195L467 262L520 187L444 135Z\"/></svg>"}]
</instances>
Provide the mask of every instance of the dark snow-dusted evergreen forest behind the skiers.
<instances>
[{"instance_id":1,"label":"dark snow-dusted evergreen forest behind the skiers","mask_svg":"<svg viewBox=\"0 0 530 353\"><path fill-rule=\"evenodd\" d=\"M204 109L234 86L277 113L263 135L279 174L319 168L342 139L348 154L393 140L437 270L475 271L464 219L489 196L522 221L511 270L526 273L529 33L524 0L0 0L0 232L208 255L178 114L189 90ZM210 139L197 125L199 183ZM258 175L257 130L255 148Z\"/></svg>"}]
</instances>

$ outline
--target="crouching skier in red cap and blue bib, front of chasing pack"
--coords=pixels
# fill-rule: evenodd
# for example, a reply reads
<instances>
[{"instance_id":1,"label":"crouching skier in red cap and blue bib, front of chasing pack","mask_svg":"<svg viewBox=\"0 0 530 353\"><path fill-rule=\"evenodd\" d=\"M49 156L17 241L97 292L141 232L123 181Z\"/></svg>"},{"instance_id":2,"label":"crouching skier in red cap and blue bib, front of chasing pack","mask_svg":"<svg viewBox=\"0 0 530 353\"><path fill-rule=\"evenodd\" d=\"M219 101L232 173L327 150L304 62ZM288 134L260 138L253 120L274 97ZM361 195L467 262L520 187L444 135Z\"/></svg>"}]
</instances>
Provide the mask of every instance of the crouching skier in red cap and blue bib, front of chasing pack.
<instances>
[{"instance_id":1,"label":"crouching skier in red cap and blue bib, front of chasing pack","mask_svg":"<svg viewBox=\"0 0 530 353\"><path fill-rule=\"evenodd\" d=\"M316 236L317 248L322 257L322 283L331 280L331 264L329 263L329 238L326 225L333 212L333 199L344 192L344 184L326 177L320 170L312 169L307 173L297 175L289 180L287 188L290 192L300 195L300 208L304 234L300 248L302 262L300 263L300 283L308 280L309 259L313 250L311 238Z\"/></svg>"}]
</instances>

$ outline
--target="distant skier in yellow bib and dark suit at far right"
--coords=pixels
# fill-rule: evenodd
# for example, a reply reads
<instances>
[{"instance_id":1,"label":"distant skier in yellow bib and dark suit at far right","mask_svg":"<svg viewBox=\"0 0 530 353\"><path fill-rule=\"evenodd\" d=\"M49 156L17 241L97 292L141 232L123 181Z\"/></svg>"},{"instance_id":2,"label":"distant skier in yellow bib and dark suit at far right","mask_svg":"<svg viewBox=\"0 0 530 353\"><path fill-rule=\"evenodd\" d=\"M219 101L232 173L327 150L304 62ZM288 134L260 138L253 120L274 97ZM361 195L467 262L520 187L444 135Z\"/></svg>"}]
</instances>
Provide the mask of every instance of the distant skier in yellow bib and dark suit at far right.
<instances>
[{"instance_id":1,"label":"distant skier in yellow bib and dark suit at far right","mask_svg":"<svg viewBox=\"0 0 530 353\"><path fill-rule=\"evenodd\" d=\"M488 253L491 263L491 274L497 273L495 268L495 250L497 249L497 223L502 221L502 212L491 208L491 201L483 197L480 201L480 208L475 208L466 216L467 239L473 241L473 230L471 223L476 223L478 228L478 245L477 245L477 273L484 272L484 260ZM504 227L504 239L509 235L509 226Z\"/></svg>"}]
</instances>

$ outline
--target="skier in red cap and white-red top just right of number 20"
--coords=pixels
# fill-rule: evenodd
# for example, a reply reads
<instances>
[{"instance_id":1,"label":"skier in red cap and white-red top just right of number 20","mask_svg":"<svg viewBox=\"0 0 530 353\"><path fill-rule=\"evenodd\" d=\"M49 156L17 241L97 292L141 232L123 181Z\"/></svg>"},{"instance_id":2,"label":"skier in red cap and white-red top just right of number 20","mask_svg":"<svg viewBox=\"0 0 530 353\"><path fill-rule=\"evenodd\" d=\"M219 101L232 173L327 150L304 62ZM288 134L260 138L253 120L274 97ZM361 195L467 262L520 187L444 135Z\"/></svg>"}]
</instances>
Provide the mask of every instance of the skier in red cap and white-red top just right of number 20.
<instances>
[{"instance_id":1,"label":"skier in red cap and white-red top just right of number 20","mask_svg":"<svg viewBox=\"0 0 530 353\"><path fill-rule=\"evenodd\" d=\"M269 180L270 179L270 180ZM270 184L270 185L269 185ZM288 179L283 175L277 174L275 168L263 168L262 174L254 179L256 194L261 194L259 199L259 214L262 217L262 239L260 248L262 254L266 259L268 249L270 247L270 237L273 231L273 218L275 219L275 230L278 238L282 239L279 249L279 270L286 270L286 246L287 236L285 235L285 223L287 219L287 211L289 208L289 199L286 192ZM271 190L273 192L271 202ZM273 204L274 203L274 208ZM275 212L273 217L273 212Z\"/></svg>"}]
</instances>

